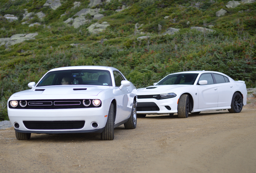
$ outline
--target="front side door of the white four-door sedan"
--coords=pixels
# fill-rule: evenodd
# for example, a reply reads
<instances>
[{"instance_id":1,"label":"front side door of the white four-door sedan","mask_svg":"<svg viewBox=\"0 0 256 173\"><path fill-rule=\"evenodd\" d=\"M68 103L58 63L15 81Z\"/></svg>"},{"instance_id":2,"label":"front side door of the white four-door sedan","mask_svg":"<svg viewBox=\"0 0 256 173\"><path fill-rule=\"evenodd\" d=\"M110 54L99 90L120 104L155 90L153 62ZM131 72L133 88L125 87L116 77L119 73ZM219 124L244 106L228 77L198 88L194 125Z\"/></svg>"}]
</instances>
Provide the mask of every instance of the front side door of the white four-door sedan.
<instances>
[{"instance_id":1,"label":"front side door of the white four-door sedan","mask_svg":"<svg viewBox=\"0 0 256 173\"><path fill-rule=\"evenodd\" d=\"M200 80L207 80L207 84L199 85L198 88L198 109L218 106L218 90L211 73L201 74Z\"/></svg>"}]
</instances>

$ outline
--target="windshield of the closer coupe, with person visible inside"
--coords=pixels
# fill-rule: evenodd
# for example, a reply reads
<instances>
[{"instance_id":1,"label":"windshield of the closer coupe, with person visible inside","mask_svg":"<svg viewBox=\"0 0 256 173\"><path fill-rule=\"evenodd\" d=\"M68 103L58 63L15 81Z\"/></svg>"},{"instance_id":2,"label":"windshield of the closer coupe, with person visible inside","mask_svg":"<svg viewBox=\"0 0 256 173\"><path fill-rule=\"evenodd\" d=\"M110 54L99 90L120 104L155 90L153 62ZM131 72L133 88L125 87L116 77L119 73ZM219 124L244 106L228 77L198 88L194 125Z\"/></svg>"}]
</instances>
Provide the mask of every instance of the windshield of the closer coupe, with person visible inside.
<instances>
[{"instance_id":1,"label":"windshield of the closer coupe, with person visible inside","mask_svg":"<svg viewBox=\"0 0 256 173\"><path fill-rule=\"evenodd\" d=\"M59 70L48 72L37 84L50 85L104 85L112 86L108 70Z\"/></svg>"}]
</instances>

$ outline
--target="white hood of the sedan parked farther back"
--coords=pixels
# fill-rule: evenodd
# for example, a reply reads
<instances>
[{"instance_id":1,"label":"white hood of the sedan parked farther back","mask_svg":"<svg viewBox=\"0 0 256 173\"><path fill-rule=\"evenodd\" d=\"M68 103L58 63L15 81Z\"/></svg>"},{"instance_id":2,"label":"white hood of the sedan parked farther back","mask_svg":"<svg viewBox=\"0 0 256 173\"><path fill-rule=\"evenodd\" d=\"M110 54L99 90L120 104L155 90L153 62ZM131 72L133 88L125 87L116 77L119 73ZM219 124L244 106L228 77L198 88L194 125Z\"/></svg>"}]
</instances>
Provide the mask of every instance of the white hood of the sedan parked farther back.
<instances>
[{"instance_id":1,"label":"white hood of the sedan parked farther back","mask_svg":"<svg viewBox=\"0 0 256 173\"><path fill-rule=\"evenodd\" d=\"M190 85L155 85L155 86L149 86L146 88L137 89L138 95L144 93L144 92L156 92L156 93L168 93L176 91L178 88L188 87Z\"/></svg>"}]
</instances>

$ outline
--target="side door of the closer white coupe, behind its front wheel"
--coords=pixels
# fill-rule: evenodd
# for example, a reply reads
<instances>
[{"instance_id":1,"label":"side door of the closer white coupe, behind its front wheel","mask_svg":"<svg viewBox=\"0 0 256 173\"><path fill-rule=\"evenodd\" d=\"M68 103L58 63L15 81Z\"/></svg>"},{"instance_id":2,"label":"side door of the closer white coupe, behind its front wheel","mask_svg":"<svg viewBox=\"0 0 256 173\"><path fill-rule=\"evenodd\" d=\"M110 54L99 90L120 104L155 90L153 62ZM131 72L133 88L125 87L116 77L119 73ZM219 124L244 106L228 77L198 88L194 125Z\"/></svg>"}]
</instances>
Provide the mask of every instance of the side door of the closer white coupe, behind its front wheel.
<instances>
[{"instance_id":1,"label":"side door of the closer white coupe, behind its front wheel","mask_svg":"<svg viewBox=\"0 0 256 173\"><path fill-rule=\"evenodd\" d=\"M121 86L121 81L125 80L122 74L118 71L113 71L114 74L114 80L116 89ZM116 109L116 123L120 123L121 121L124 121L128 118L128 116L131 113L131 108L129 104L129 95L130 91L127 89L127 87L123 87L122 90L117 90L116 92L116 102L117 102L117 109Z\"/></svg>"}]
</instances>

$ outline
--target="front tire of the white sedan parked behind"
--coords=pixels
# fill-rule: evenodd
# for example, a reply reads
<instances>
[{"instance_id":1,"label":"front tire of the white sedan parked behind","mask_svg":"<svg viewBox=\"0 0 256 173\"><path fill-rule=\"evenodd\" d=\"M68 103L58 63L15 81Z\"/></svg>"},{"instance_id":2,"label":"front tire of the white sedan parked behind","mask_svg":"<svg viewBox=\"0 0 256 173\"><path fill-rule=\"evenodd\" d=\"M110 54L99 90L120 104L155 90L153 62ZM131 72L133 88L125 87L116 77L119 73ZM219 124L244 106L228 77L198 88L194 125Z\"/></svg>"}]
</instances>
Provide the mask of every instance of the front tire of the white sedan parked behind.
<instances>
[{"instance_id":1,"label":"front tire of the white sedan parked behind","mask_svg":"<svg viewBox=\"0 0 256 173\"><path fill-rule=\"evenodd\" d=\"M183 94L178 102L178 118L188 118L189 112L189 96Z\"/></svg>"}]
</instances>

